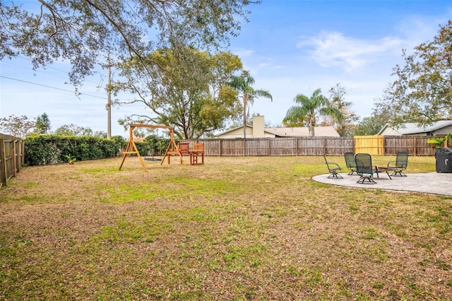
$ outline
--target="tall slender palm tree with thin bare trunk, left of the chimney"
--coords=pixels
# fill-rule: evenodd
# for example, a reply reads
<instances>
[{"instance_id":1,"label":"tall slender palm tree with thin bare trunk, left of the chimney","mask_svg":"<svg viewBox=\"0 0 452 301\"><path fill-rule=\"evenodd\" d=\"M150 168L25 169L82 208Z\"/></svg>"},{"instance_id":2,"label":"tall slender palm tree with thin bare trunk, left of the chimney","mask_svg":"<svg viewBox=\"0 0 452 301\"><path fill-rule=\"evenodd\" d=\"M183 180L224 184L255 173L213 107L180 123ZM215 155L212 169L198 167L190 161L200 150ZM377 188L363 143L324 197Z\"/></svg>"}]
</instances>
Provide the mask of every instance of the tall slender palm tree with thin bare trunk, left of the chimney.
<instances>
[{"instance_id":1,"label":"tall slender palm tree with thin bare trunk, left of the chimney","mask_svg":"<svg viewBox=\"0 0 452 301\"><path fill-rule=\"evenodd\" d=\"M238 93L238 98L243 101L243 137L246 138L246 119L249 117L249 105L253 105L254 100L259 97L269 98L273 101L272 95L267 90L254 90L254 78L249 75L249 71L243 71L241 76L232 76L229 85Z\"/></svg>"}]
</instances>

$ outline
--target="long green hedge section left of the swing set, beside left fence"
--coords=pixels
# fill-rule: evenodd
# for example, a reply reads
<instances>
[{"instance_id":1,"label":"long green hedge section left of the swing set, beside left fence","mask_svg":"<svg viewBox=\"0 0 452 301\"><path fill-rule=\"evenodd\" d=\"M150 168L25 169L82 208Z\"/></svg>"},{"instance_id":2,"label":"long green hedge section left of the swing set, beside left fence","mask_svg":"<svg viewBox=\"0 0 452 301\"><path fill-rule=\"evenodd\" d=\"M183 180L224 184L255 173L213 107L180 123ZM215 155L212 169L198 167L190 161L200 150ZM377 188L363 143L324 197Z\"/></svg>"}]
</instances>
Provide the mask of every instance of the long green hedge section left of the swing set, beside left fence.
<instances>
[{"instance_id":1,"label":"long green hedge section left of the swing set, beside left fence","mask_svg":"<svg viewBox=\"0 0 452 301\"><path fill-rule=\"evenodd\" d=\"M95 160L121 155L126 141L121 136L111 140L93 136L41 135L25 138L25 164L46 165L71 160Z\"/></svg>"}]
</instances>

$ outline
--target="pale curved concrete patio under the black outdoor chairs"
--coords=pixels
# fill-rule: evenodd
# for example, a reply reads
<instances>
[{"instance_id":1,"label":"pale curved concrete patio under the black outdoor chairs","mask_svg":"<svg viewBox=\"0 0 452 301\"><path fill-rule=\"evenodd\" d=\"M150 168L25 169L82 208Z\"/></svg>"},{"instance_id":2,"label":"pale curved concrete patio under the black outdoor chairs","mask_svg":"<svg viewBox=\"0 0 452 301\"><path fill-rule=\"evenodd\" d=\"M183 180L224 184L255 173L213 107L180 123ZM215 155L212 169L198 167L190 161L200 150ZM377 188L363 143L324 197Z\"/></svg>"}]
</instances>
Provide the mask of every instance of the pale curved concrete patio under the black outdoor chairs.
<instances>
[{"instance_id":1,"label":"pale curved concrete patio under the black outdoor chairs","mask_svg":"<svg viewBox=\"0 0 452 301\"><path fill-rule=\"evenodd\" d=\"M383 189L392 191L412 191L426 194L441 194L452 196L452 173L427 172L422 174L407 174L408 177L392 177L389 179L386 172L380 172L379 177L374 177L376 184L358 184L358 175L340 173L343 179L328 179L328 175L316 175L314 181L325 184L358 187L365 189Z\"/></svg>"}]
</instances>

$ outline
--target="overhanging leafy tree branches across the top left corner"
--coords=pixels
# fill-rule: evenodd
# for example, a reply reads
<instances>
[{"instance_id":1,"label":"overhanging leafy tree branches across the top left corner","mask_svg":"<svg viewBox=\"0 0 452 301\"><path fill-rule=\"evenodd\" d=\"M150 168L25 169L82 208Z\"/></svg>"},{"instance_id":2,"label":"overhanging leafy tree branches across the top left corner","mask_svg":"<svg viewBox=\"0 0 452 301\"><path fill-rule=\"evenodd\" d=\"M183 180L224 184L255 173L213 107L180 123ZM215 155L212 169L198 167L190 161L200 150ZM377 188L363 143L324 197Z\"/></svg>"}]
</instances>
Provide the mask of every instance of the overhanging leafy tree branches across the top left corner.
<instances>
[{"instance_id":1,"label":"overhanging leafy tree branches across the top left corner","mask_svg":"<svg viewBox=\"0 0 452 301\"><path fill-rule=\"evenodd\" d=\"M73 83L105 57L146 57L161 47L224 46L251 0L0 1L0 59L23 55L37 69L71 62ZM201 47L201 46L200 46Z\"/></svg>"}]
</instances>

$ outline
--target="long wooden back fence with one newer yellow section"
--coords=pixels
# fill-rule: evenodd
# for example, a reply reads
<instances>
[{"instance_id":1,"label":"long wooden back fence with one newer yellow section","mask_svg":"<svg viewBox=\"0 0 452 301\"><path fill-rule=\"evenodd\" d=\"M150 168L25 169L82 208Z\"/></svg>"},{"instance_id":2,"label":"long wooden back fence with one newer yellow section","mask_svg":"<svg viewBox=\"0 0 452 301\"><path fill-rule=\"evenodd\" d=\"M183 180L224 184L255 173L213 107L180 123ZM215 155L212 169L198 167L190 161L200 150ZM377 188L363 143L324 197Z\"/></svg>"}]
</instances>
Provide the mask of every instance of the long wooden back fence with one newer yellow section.
<instances>
[{"instance_id":1,"label":"long wooden back fence with one newer yellow section","mask_svg":"<svg viewBox=\"0 0 452 301\"><path fill-rule=\"evenodd\" d=\"M427 143L431 136L355 136L355 137L290 137L198 139L184 142L204 143L206 155L211 156L278 156L278 155L344 155L369 153L396 155L408 151L410 155L434 155Z\"/></svg>"}]
</instances>

